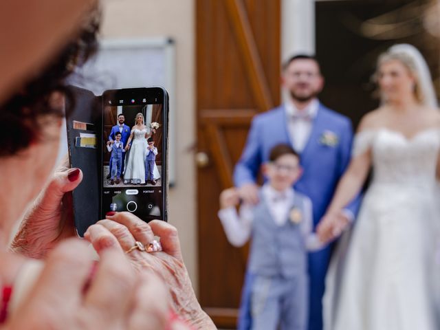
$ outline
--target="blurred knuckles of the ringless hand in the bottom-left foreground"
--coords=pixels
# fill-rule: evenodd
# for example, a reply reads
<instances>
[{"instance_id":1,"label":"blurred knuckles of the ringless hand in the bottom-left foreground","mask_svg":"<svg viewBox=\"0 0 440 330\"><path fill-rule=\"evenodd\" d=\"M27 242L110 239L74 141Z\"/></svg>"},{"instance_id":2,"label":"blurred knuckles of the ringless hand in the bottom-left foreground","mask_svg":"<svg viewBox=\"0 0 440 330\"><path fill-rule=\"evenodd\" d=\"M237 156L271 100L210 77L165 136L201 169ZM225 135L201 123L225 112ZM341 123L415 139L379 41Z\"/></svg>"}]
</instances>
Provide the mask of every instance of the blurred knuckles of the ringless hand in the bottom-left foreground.
<instances>
[{"instance_id":1,"label":"blurred knuckles of the ringless hand in the bottom-left foreground","mask_svg":"<svg viewBox=\"0 0 440 330\"><path fill-rule=\"evenodd\" d=\"M5 329L165 329L168 293L161 281L134 272L124 253L113 246L102 247L94 270L89 252L78 239L50 252Z\"/></svg>"}]
</instances>

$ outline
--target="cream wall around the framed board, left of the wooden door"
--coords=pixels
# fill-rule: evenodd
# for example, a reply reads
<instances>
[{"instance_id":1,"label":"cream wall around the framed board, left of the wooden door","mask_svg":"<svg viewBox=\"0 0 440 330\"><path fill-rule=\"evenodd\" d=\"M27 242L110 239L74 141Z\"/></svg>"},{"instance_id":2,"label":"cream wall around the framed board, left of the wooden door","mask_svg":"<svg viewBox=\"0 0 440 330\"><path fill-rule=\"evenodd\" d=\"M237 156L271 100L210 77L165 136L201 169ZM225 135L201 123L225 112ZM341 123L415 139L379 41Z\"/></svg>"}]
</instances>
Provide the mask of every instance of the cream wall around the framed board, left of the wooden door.
<instances>
[{"instance_id":1,"label":"cream wall around the framed board, left of the wooden door","mask_svg":"<svg viewBox=\"0 0 440 330\"><path fill-rule=\"evenodd\" d=\"M176 185L170 188L169 222L179 230L193 285L197 284L195 144L195 0L104 1L104 38L169 36L175 41Z\"/></svg>"}]
</instances>

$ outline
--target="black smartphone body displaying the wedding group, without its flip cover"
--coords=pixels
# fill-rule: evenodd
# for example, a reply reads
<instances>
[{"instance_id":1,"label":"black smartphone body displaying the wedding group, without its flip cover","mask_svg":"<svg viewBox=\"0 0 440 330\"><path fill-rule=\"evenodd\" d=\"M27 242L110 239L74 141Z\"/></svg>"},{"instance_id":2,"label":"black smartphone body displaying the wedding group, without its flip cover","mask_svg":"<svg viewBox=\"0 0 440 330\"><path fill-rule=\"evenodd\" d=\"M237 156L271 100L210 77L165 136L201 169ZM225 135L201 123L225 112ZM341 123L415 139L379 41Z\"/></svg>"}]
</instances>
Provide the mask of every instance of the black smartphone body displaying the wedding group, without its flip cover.
<instances>
[{"instance_id":1,"label":"black smartphone body displaying the wedding group, without its flip cover","mask_svg":"<svg viewBox=\"0 0 440 330\"><path fill-rule=\"evenodd\" d=\"M166 91L106 91L102 104L102 218L128 211L144 221L166 220Z\"/></svg>"}]
</instances>

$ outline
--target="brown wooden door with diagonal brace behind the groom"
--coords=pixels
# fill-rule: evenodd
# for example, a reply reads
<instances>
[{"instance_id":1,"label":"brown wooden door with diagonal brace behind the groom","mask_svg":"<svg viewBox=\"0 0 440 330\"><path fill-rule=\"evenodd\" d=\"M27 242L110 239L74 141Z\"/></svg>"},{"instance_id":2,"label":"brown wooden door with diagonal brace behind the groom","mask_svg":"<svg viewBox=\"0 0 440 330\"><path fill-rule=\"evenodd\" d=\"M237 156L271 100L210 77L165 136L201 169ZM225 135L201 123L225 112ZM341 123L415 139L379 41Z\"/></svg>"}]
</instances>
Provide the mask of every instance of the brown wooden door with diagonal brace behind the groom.
<instances>
[{"instance_id":1,"label":"brown wooden door with diagonal brace behind the groom","mask_svg":"<svg viewBox=\"0 0 440 330\"><path fill-rule=\"evenodd\" d=\"M218 198L232 186L252 116L280 101L280 5L197 0L199 298L226 329L236 325L248 249L226 240Z\"/></svg>"}]
</instances>

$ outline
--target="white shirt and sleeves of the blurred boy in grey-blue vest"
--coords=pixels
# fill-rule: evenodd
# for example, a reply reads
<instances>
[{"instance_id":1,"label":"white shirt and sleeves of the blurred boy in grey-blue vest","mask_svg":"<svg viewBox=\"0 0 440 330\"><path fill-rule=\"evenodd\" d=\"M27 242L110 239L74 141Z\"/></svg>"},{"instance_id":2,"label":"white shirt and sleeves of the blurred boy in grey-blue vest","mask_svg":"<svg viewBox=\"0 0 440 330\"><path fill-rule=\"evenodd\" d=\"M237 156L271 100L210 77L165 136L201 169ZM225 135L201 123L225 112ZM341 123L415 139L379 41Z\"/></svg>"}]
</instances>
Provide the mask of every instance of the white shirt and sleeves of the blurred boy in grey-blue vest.
<instances>
[{"instance_id":1,"label":"white shirt and sleeves of the blurred boy in grey-blue vest","mask_svg":"<svg viewBox=\"0 0 440 330\"><path fill-rule=\"evenodd\" d=\"M272 188L270 184L265 184L261 188L261 192L276 225L284 225L288 221L289 211L292 209L294 189L287 188L287 190L279 192ZM223 208L218 213L228 241L236 247L243 246L250 239L254 221L254 206L243 205L239 213L237 214L236 209L233 207ZM323 244L319 241L318 236L312 232L313 211L309 199L299 225L307 250L320 250Z\"/></svg>"}]
</instances>

